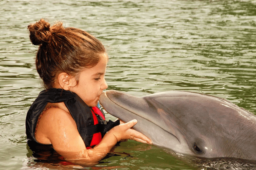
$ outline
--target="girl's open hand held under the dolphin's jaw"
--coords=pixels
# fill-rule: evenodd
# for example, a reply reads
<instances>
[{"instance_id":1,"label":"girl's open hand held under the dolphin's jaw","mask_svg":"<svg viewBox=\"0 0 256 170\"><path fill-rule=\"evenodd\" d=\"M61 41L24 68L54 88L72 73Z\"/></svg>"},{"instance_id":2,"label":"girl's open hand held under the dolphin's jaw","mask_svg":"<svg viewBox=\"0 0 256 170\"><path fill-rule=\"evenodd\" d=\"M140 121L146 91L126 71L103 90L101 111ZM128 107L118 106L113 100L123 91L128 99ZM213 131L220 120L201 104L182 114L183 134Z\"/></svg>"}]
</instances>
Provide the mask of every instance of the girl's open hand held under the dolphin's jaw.
<instances>
[{"instance_id":1,"label":"girl's open hand held under the dolphin's jaw","mask_svg":"<svg viewBox=\"0 0 256 170\"><path fill-rule=\"evenodd\" d=\"M113 133L117 141L132 139L138 142L152 144L152 141L147 136L145 136L144 134L134 129L131 129L136 124L137 124L137 120L132 120L130 122L120 124L112 128L109 132Z\"/></svg>"}]
</instances>

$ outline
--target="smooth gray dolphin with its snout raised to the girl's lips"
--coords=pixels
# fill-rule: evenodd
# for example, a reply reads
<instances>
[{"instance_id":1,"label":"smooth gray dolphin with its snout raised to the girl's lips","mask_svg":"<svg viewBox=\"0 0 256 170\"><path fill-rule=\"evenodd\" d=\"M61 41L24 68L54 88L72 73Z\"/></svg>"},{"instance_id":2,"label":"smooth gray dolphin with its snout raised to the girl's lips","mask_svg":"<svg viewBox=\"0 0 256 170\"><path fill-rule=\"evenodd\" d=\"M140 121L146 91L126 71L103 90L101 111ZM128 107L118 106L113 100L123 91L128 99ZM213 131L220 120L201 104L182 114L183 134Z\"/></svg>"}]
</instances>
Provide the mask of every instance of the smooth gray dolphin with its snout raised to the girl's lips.
<instances>
[{"instance_id":1,"label":"smooth gray dolphin with its snout raised to the girl's lips","mask_svg":"<svg viewBox=\"0 0 256 170\"><path fill-rule=\"evenodd\" d=\"M256 117L214 96L167 91L135 97L109 90L100 104L124 122L137 119L135 130L153 145L206 158L256 160Z\"/></svg>"}]
</instances>

